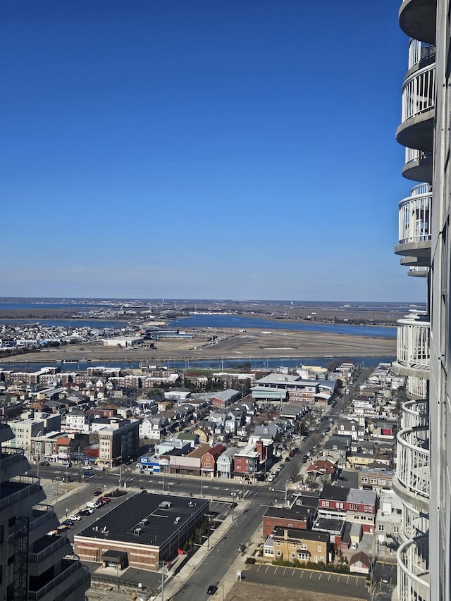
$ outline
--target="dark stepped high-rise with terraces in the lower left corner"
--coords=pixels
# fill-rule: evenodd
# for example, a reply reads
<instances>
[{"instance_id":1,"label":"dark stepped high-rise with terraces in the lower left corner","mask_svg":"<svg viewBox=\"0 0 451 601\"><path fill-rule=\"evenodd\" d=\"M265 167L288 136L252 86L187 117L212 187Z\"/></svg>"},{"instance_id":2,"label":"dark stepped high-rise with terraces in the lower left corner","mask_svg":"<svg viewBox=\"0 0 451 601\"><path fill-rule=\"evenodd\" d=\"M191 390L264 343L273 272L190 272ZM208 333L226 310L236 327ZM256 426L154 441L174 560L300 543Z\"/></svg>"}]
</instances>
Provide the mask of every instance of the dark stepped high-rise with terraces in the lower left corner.
<instances>
[{"instance_id":1,"label":"dark stepped high-rise with terraces in the lower left corner","mask_svg":"<svg viewBox=\"0 0 451 601\"><path fill-rule=\"evenodd\" d=\"M0 422L0 599L5 601L83 601L89 571L59 533L53 507L42 502L39 478L26 476L23 449Z\"/></svg>"}]
</instances>

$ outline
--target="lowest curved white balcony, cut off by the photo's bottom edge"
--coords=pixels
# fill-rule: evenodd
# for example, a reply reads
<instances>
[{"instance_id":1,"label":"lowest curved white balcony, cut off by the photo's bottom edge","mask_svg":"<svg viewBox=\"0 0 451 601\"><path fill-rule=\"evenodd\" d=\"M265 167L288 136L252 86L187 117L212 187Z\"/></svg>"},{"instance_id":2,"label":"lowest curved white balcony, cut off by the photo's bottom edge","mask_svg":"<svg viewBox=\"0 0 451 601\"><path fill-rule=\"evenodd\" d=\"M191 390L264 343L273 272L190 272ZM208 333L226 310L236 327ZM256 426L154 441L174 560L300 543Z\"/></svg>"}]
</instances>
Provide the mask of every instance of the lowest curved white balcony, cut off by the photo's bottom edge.
<instances>
[{"instance_id":1,"label":"lowest curved white balcony, cut off by the photo's bottom edge","mask_svg":"<svg viewBox=\"0 0 451 601\"><path fill-rule=\"evenodd\" d=\"M397 550L399 601L429 600L429 543L427 536L409 540Z\"/></svg>"}]
</instances>

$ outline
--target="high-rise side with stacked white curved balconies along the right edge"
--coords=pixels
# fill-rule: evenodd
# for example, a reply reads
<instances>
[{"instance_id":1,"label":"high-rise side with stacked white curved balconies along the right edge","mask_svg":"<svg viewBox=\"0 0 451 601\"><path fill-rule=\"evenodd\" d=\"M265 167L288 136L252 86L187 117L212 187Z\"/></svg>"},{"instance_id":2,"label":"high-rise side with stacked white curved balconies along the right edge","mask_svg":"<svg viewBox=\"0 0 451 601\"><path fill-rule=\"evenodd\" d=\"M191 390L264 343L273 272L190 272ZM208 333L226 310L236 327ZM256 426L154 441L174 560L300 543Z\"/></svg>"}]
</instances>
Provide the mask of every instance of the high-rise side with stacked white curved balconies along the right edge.
<instances>
[{"instance_id":1,"label":"high-rise side with stacked white curved balconies along the right edge","mask_svg":"<svg viewBox=\"0 0 451 601\"><path fill-rule=\"evenodd\" d=\"M402 174L417 183L400 202L395 252L425 278L427 297L426 311L398 322L395 369L409 396L393 485L403 504L400 601L451 600L450 11L450 0L404 0L399 13L410 39L396 137Z\"/></svg>"}]
</instances>

